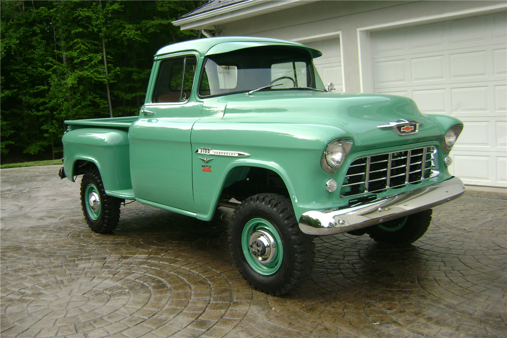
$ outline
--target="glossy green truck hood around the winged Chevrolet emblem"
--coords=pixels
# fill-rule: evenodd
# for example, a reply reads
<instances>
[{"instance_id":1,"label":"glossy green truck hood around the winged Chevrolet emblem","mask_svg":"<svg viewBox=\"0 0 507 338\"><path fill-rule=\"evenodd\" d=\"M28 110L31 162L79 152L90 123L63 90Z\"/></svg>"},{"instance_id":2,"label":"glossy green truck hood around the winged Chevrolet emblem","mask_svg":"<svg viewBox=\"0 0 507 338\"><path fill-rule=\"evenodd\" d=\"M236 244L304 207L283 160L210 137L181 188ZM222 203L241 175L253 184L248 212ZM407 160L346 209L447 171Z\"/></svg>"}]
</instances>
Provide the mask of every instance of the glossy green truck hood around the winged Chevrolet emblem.
<instances>
[{"instance_id":1,"label":"glossy green truck hood around the winged Chevrolet emblem","mask_svg":"<svg viewBox=\"0 0 507 338\"><path fill-rule=\"evenodd\" d=\"M351 137L364 150L432 141L445 132L413 100L399 96L285 91L229 95L220 101L226 103L223 119L336 127L336 138ZM401 119L421 122L419 132L400 136L378 128Z\"/></svg>"}]
</instances>

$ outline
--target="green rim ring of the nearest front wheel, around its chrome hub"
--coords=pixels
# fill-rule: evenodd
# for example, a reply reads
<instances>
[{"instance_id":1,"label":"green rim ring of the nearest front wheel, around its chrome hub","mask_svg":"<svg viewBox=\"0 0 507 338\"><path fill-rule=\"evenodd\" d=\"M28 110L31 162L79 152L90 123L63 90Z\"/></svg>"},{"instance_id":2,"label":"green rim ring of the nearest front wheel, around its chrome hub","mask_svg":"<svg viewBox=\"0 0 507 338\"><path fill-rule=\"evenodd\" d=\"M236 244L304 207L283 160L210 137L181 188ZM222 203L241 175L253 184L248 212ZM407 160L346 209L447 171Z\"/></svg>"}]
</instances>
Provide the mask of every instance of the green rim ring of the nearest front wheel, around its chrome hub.
<instances>
[{"instance_id":1,"label":"green rim ring of the nearest front wheel, around its chrome hub","mask_svg":"<svg viewBox=\"0 0 507 338\"><path fill-rule=\"evenodd\" d=\"M274 245L276 248L275 255L272 260L267 263L261 263L251 252L250 252L250 236L256 231L264 231L271 235L274 239ZM248 262L248 265L257 273L269 276L278 271L280 266L282 265L283 260L283 245L280 235L276 231L276 228L265 219L262 218L253 218L250 219L243 228L243 233L241 234L241 248L243 250L243 255Z\"/></svg>"}]
</instances>

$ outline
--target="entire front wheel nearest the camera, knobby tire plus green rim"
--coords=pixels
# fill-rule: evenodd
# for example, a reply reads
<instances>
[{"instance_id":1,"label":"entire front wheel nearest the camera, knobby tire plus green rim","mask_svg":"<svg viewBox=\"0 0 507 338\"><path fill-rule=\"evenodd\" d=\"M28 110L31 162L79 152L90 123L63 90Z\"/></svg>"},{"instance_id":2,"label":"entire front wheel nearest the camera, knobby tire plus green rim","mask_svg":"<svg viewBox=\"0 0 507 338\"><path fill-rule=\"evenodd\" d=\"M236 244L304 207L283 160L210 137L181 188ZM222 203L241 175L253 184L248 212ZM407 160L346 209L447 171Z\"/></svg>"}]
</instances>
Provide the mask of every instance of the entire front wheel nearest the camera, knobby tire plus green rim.
<instances>
[{"instance_id":1,"label":"entire front wheel nearest the camera, knobby tire plus green rim","mask_svg":"<svg viewBox=\"0 0 507 338\"><path fill-rule=\"evenodd\" d=\"M310 272L313 236L299 229L291 201L259 194L234 211L229 228L233 258L255 289L271 295L291 291Z\"/></svg>"}]
</instances>

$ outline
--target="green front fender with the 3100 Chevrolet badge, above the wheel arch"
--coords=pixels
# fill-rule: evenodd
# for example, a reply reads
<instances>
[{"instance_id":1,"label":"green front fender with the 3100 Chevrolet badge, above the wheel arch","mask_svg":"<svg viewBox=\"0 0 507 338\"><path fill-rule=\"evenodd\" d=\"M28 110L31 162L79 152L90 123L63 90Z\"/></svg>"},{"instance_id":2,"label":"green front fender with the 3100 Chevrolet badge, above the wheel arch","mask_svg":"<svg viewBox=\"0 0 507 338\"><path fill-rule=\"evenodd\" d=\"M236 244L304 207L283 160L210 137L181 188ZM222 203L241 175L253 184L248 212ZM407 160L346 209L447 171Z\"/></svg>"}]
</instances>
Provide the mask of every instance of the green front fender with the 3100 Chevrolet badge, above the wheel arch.
<instances>
[{"instance_id":1,"label":"green front fender with the 3100 Chevrolet badge, above the wheel arch","mask_svg":"<svg viewBox=\"0 0 507 338\"><path fill-rule=\"evenodd\" d=\"M197 218L209 220L212 217L229 173L239 166L260 167L277 173L285 183L297 217L309 209L324 208L333 196L325 190L331 176L322 170L320 159L327 144L340 137L350 135L333 126L201 119L192 131ZM243 152L249 156L196 154L201 147ZM208 162L203 162L206 158Z\"/></svg>"}]
</instances>

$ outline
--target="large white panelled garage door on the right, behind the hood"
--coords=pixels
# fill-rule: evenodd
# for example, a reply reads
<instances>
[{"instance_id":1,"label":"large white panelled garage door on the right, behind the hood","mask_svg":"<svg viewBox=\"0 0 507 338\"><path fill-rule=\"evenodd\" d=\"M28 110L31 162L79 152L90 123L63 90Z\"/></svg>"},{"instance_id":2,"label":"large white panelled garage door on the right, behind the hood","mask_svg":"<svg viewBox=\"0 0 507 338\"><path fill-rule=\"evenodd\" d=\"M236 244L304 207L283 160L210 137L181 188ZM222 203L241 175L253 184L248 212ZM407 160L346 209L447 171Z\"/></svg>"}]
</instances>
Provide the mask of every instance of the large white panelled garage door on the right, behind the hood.
<instances>
[{"instance_id":1,"label":"large white panelled garage door on the right, behind the hood","mask_svg":"<svg viewBox=\"0 0 507 338\"><path fill-rule=\"evenodd\" d=\"M507 14L372 32L374 91L463 121L451 173L507 186Z\"/></svg>"}]
</instances>

